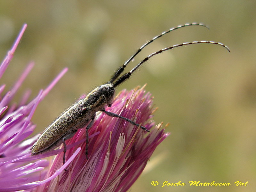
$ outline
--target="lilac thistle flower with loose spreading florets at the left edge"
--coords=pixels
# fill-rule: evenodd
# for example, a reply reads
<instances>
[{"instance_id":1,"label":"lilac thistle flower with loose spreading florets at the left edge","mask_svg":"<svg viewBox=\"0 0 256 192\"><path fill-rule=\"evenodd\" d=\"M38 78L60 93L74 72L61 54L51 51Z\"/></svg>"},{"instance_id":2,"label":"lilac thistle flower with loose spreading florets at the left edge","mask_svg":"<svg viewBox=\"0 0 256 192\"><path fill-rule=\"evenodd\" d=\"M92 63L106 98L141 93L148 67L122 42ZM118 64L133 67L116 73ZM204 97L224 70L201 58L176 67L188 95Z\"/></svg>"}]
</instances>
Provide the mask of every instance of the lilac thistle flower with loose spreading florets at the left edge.
<instances>
[{"instance_id":1,"label":"lilac thistle flower with loose spreading florets at the left edge","mask_svg":"<svg viewBox=\"0 0 256 192\"><path fill-rule=\"evenodd\" d=\"M0 77L2 77L4 71L10 64L26 27L26 24L22 27L12 49L7 53L2 62L0 66ZM26 104L26 102L30 94L29 91L25 92L19 105L13 104L8 106L32 67L33 63L28 64L12 89L1 97L0 100L0 191L17 191L34 188L57 176L55 173L51 178L44 179L47 170L42 170L49 165L49 162L47 160L38 160L31 163L32 160L36 158L30 157L30 148L37 136L27 140L25 139L33 133L36 127L31 123L31 117L33 116L36 106L66 73L67 68L62 70L52 83L45 90L41 90L38 96L28 102L28 104ZM5 85L0 86L0 93L4 91L4 87ZM69 163L74 156L70 158Z\"/></svg>"}]
</instances>

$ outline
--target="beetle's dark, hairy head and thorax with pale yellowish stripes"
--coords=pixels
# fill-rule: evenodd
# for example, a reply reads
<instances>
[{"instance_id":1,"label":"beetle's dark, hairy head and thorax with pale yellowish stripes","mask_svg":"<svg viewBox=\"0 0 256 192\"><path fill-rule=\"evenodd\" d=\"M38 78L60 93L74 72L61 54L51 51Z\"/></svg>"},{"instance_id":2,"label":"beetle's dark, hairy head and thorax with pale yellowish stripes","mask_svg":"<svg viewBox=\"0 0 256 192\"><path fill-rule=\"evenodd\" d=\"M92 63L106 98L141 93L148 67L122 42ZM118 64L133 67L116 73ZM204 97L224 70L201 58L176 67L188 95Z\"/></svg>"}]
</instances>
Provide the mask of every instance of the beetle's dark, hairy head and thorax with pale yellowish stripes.
<instances>
[{"instance_id":1,"label":"beetle's dark, hairy head and thorax with pale yellowish stripes","mask_svg":"<svg viewBox=\"0 0 256 192\"><path fill-rule=\"evenodd\" d=\"M115 95L115 88L112 83L104 84L92 90L84 101L88 107L99 111L105 109L107 105L111 105Z\"/></svg>"}]
</instances>

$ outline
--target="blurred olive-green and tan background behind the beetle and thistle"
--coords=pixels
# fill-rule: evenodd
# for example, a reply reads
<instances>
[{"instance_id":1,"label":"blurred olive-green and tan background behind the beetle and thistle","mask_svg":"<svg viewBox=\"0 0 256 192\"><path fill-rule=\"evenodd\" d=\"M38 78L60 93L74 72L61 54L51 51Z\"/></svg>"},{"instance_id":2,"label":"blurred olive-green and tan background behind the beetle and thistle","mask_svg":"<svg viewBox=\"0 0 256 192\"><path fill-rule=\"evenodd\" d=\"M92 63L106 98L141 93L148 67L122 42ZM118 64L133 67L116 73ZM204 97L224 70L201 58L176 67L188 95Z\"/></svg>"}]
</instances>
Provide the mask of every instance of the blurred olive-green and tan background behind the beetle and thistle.
<instances>
[{"instance_id":1,"label":"blurred olive-green and tan background behind the beetle and thistle","mask_svg":"<svg viewBox=\"0 0 256 192\"><path fill-rule=\"evenodd\" d=\"M147 40L180 24L203 22L210 30L191 26L173 31L127 67L188 41L218 41L231 50L209 44L176 48L150 59L119 87L147 83L159 107L154 120L170 123L166 131L171 135L131 191L255 191L255 8L255 0L1 1L1 58L21 26L28 24L1 84L9 88L33 60L35 67L19 91L21 95L30 88L33 98L60 70L69 68L36 110L33 121L41 132L80 95L106 82ZM152 186L153 180L160 184ZM186 186L162 188L165 180L181 180ZM190 180L231 186L193 187ZM237 180L248 181L248 186L235 186Z\"/></svg>"}]
</instances>

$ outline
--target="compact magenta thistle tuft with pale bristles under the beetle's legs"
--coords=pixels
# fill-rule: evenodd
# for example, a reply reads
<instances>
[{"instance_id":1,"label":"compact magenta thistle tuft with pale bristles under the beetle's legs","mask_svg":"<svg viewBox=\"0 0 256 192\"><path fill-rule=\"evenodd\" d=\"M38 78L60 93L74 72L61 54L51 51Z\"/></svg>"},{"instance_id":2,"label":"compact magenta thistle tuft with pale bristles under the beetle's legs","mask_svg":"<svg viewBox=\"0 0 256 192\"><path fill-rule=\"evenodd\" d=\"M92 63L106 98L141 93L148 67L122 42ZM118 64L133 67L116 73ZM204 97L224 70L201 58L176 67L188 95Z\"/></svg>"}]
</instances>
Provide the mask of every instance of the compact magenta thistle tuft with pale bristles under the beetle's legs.
<instances>
[{"instance_id":1,"label":"compact magenta thistle tuft with pale bristles under the beetle's legs","mask_svg":"<svg viewBox=\"0 0 256 192\"><path fill-rule=\"evenodd\" d=\"M107 111L141 122L150 133L141 128L104 113L98 114L95 123L89 129L89 159L85 157L85 130L80 129L68 140L66 157L73 154L79 146L82 152L68 166L55 182L46 184L38 191L127 191L145 168L149 157L156 146L168 135L161 129L162 124L155 128L149 121L152 117L152 98L145 94L144 87L130 92L122 91ZM55 156L50 174L63 163L63 153ZM46 188L47 187L47 188ZM46 190L48 189L48 190Z\"/></svg>"}]
</instances>

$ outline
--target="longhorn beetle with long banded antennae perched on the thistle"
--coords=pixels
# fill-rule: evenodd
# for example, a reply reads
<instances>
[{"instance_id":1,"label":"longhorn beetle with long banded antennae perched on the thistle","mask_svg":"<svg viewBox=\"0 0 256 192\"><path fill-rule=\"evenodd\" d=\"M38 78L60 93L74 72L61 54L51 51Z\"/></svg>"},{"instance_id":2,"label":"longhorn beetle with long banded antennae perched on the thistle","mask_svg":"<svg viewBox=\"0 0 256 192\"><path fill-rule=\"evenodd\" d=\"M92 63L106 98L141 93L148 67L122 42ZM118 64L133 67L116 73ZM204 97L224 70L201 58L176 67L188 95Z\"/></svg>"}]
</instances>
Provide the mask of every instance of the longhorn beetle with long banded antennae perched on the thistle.
<instances>
[{"instance_id":1,"label":"longhorn beetle with long banded antennae perched on the thistle","mask_svg":"<svg viewBox=\"0 0 256 192\"><path fill-rule=\"evenodd\" d=\"M180 47L183 45L188 44L217 44L220 46L225 47L228 51L228 47L222 43L213 42L213 41L193 41L193 42L186 42L181 44L176 44L171 47L166 47L164 49L161 49L157 52L154 52L142 61L138 65L136 65L130 72L124 73L121 75L124 71L124 68L128 65L128 63L133 60L133 58L148 44L155 41L157 38L175 30L178 28L191 26L191 25L198 25L198 26L204 26L202 23L188 23L185 25L179 25L175 28L171 28L167 31L164 31L158 36L155 36L153 39L148 41L147 43L143 44L121 67L119 67L107 84L103 84L96 89L92 90L84 99L76 101L73 105L71 105L66 111L64 111L60 116L58 116L52 124L50 124L45 131L39 136L39 138L36 140L35 144L31 148L31 154L37 155L41 153L45 153L47 151L51 151L54 148L57 148L60 146L61 143L64 145L64 156L63 156L63 164L65 163L65 155L66 155L66 143L65 141L75 135L78 129L84 128L86 125L86 148L85 148L85 155L88 159L88 141L89 141L89 135L88 135L88 129L92 127L92 124L94 122L95 114L97 111L102 111L108 116L111 117L118 117L121 118L133 125L136 125L137 127L140 126L141 129L144 131L149 132L149 130L146 129L146 127L141 126L140 124L137 124L133 122L130 119L127 119L123 116L119 116L115 113L105 111L105 108L111 107L113 103L113 98L115 95L116 87L120 84L122 84L124 81L130 78L130 76L133 74L133 72L138 69L143 63L145 63L149 58L153 57L154 55L157 55L159 53L162 53L164 51L167 51L169 49ZM207 28L207 27L206 27ZM230 51L229 51L230 52Z\"/></svg>"}]
</instances>

